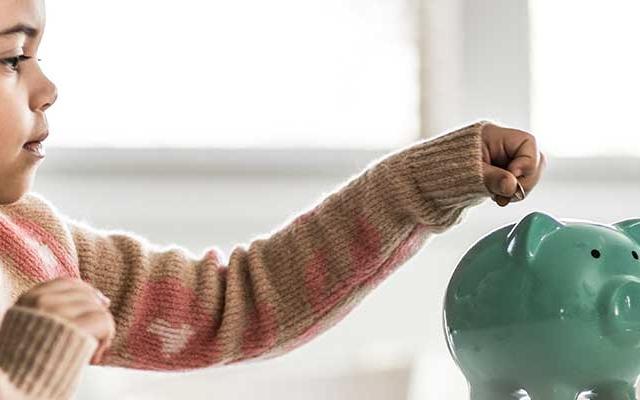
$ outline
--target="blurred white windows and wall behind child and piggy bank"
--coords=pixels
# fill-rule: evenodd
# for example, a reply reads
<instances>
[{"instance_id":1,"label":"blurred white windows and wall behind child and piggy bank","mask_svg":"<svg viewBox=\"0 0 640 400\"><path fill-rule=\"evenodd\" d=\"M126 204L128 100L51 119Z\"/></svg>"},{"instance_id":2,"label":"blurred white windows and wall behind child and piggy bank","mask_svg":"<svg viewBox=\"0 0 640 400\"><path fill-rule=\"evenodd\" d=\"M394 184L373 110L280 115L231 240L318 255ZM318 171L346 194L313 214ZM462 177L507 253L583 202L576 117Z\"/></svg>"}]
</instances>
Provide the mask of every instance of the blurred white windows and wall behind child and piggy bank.
<instances>
[{"instance_id":1,"label":"blurred white windows and wall behind child and piggy bank","mask_svg":"<svg viewBox=\"0 0 640 400\"><path fill-rule=\"evenodd\" d=\"M466 399L442 332L460 257L531 211L640 216L633 0L50 2L57 84L34 190L194 254L268 234L371 161L479 119L549 158L527 201L433 236L335 327L276 359L90 367L78 399Z\"/></svg>"}]
</instances>

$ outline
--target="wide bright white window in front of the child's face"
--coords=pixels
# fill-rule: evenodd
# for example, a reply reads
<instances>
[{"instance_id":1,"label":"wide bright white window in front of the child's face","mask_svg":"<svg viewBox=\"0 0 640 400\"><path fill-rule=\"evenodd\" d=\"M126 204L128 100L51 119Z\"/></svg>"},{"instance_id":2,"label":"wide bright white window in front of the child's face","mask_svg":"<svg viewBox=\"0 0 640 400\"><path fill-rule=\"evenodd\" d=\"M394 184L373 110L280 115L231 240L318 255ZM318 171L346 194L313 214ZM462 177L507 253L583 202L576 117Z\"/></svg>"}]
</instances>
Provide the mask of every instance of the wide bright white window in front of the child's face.
<instances>
[{"instance_id":1,"label":"wide bright white window in front of the child's face","mask_svg":"<svg viewBox=\"0 0 640 400\"><path fill-rule=\"evenodd\" d=\"M419 137L408 0L47 4L51 146L390 148Z\"/></svg>"}]
</instances>

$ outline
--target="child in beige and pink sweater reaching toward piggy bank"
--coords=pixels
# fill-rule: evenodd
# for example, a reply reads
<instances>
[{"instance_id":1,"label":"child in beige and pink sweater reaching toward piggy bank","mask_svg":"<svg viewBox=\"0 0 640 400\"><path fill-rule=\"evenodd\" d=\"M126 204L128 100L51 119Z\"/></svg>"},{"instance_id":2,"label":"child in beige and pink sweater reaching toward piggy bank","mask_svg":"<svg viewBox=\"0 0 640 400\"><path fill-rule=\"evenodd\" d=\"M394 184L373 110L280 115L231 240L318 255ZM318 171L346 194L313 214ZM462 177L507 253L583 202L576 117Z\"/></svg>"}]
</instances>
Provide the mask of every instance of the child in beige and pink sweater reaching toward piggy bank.
<instances>
[{"instance_id":1,"label":"child in beige and pink sweater reaching toward piggy bank","mask_svg":"<svg viewBox=\"0 0 640 400\"><path fill-rule=\"evenodd\" d=\"M226 264L214 248L160 249L29 192L56 100L36 58L44 27L43 0L0 0L2 399L69 398L89 363L177 371L291 351L465 209L523 199L545 165L532 135L480 121L371 163Z\"/></svg>"}]
</instances>

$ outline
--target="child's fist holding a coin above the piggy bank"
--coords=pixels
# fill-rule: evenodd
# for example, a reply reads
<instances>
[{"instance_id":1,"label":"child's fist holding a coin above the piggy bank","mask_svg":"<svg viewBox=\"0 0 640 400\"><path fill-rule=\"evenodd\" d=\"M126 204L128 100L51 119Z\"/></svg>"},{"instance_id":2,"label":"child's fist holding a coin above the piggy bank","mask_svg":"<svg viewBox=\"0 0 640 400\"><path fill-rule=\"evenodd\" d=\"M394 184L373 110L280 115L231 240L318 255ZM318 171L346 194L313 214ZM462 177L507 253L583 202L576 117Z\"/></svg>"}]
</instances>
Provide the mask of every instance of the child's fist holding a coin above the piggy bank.
<instances>
[{"instance_id":1,"label":"child's fist holding a coin above the piggy bank","mask_svg":"<svg viewBox=\"0 0 640 400\"><path fill-rule=\"evenodd\" d=\"M546 166L533 135L493 124L482 128L482 161L484 184L501 207L520 201L514 197L518 182L529 194Z\"/></svg>"}]
</instances>

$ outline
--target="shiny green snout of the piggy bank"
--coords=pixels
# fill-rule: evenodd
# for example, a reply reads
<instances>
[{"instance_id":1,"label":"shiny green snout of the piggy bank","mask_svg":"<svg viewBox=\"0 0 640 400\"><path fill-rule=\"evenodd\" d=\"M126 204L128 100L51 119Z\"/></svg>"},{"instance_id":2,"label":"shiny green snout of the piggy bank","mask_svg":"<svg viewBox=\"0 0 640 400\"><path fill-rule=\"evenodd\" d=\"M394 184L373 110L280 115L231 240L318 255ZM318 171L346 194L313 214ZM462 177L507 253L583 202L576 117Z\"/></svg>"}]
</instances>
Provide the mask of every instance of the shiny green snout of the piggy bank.
<instances>
[{"instance_id":1,"label":"shiny green snout of the piggy bank","mask_svg":"<svg viewBox=\"0 0 640 400\"><path fill-rule=\"evenodd\" d=\"M622 346L640 345L640 279L618 277L601 293L604 334Z\"/></svg>"}]
</instances>

